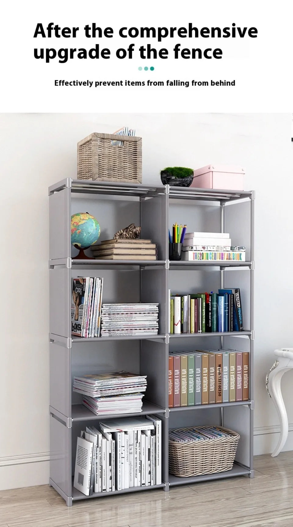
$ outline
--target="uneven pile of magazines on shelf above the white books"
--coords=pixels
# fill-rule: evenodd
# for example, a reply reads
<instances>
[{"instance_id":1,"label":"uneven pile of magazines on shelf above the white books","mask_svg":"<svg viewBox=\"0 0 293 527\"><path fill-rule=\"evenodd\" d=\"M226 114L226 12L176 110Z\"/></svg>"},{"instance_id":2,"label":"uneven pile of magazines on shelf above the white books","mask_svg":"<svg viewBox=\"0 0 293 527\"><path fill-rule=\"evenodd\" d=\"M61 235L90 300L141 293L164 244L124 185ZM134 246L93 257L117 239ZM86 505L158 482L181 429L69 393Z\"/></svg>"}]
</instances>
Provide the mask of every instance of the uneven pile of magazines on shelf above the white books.
<instances>
[{"instance_id":1,"label":"uneven pile of magazines on shelf above the white books","mask_svg":"<svg viewBox=\"0 0 293 527\"><path fill-rule=\"evenodd\" d=\"M129 372L74 377L73 391L83 395L83 404L95 415L138 414L142 410L147 376Z\"/></svg>"}]
</instances>

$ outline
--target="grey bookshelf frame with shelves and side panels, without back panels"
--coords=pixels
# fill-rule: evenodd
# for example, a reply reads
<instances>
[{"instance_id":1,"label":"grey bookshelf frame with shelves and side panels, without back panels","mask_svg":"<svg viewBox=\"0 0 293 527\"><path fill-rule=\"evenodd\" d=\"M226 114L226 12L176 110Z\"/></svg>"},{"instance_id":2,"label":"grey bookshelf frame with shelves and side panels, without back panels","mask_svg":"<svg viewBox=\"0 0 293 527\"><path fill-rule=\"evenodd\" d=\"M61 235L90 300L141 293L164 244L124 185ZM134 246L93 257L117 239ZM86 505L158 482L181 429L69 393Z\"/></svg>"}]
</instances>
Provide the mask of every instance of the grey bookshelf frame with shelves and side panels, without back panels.
<instances>
[{"instance_id":1,"label":"grey bookshelf frame with shelves and side panels, without back panels","mask_svg":"<svg viewBox=\"0 0 293 527\"><path fill-rule=\"evenodd\" d=\"M74 501L91 499L125 492L157 489L152 487L132 487L124 491L94 493L85 496L73 487L73 427L82 423L96 424L101 419L80 404L72 404L72 353L74 349L84 349L90 343L99 350L99 343L115 340L138 341L141 372L148 376L148 388L143 402L142 414L159 415L163 423L162 443L162 487L169 491L170 486L210 481L224 477L248 475L253 477L253 294L254 294L254 191L209 190L151 186L144 184L101 183L99 181L64 179L48 189L50 197L50 485L63 497L67 506ZM142 238L151 238L158 244L157 261L136 260L73 260L71 258L71 199L74 194L98 194L99 197L116 196L137 197L140 202ZM168 257L169 208L172 200L193 200L194 204L204 205L216 201L220 205L220 231L225 228L225 207L230 202L250 202L250 258L246 262L174 262ZM169 273L173 270L196 270L217 267L220 272L220 287L224 287L229 268L239 268L250 273L249 310L250 327L241 332L212 334L169 335ZM71 336L70 304L71 278L75 270L99 272L104 269L139 270L141 301L159 302L159 334L151 336L122 338L79 338ZM249 339L250 351L250 397L249 401L212 405L168 407L168 355L171 343L187 339L192 345L197 338L219 338L224 347L226 337ZM175 339L175 340L173 340ZM77 348L76 348L77 347ZM246 408L246 410L245 410ZM180 478L169 475L168 470L168 431L172 419L184 416L217 416L218 423L233 427L241 434L238 457L231 471ZM141 414L139 414L141 415ZM105 419L107 416L103 416ZM112 417L112 416L111 416ZM115 417L115 416L114 416ZM193 418L193 417L192 417ZM215 417L216 418L216 417Z\"/></svg>"}]
</instances>

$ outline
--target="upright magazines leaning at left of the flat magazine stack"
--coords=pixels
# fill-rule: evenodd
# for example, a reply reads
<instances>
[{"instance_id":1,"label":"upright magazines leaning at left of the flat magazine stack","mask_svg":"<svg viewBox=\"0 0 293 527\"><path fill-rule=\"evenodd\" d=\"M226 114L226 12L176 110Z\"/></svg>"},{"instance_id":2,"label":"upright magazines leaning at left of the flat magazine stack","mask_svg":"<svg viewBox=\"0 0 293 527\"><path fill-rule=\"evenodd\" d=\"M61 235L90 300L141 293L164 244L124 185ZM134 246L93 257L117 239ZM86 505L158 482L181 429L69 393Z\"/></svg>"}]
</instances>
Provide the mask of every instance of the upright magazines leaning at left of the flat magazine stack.
<instances>
[{"instance_id":1,"label":"upright magazines leaning at left of the flat magazine stack","mask_svg":"<svg viewBox=\"0 0 293 527\"><path fill-rule=\"evenodd\" d=\"M103 278L79 277L72 280L71 334L99 337Z\"/></svg>"}]
</instances>

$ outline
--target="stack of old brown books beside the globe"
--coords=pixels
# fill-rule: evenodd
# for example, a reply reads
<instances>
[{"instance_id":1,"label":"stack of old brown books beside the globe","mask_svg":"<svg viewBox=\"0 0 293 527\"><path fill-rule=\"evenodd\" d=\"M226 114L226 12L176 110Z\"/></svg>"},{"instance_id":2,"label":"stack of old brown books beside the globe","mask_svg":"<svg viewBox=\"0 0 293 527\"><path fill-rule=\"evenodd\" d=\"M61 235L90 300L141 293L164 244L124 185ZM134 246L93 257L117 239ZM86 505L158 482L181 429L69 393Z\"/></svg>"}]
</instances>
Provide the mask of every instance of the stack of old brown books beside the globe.
<instances>
[{"instance_id":1,"label":"stack of old brown books beside the globe","mask_svg":"<svg viewBox=\"0 0 293 527\"><path fill-rule=\"evenodd\" d=\"M157 245L152 240L126 238L103 240L91 247L98 260L157 260Z\"/></svg>"}]
</instances>

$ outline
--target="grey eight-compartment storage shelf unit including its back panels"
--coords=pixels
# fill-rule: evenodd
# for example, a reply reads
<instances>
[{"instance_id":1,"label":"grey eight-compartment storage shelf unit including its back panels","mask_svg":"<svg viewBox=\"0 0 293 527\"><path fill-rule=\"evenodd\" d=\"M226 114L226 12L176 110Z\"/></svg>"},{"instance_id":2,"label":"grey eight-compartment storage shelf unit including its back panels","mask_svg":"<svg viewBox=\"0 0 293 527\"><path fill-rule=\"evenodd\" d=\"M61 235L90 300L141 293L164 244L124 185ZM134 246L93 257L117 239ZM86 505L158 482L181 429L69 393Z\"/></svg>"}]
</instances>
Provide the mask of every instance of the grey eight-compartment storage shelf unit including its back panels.
<instances>
[{"instance_id":1,"label":"grey eight-compartment storage shelf unit including its back panels","mask_svg":"<svg viewBox=\"0 0 293 527\"><path fill-rule=\"evenodd\" d=\"M158 488L168 491L170 485L191 484L239 475L253 477L254 192L185 189L161 184L151 186L101 183L67 178L51 186L48 193L50 196L50 485L63 497L66 504L71 506L73 501L125 492ZM115 228L117 227L116 230L121 228L121 223L124 221L119 218L119 213L122 214L123 209L121 203L125 205L124 213L126 208L128 210L131 207L131 211L136 214L136 225L140 221L141 237L152 239L157 243L158 260L72 259L71 214L77 212L76 207L81 207L81 203L87 203L88 200L91 204L90 211L95 210L96 207L97 214L99 207L108 207L109 202L111 207L115 207L113 210L117 211L118 216L116 218L116 213L113 212L111 220L116 221L117 225L113 224ZM249 232L246 229L241 238L241 245L243 240L243 245L247 248L248 261L169 261L168 227L173 222L172 217L177 218L180 207L183 214L191 211L190 222L184 221L184 223L194 222L193 225L201 225L202 228L199 230L220 230L220 232L227 230L233 232L236 239L237 225L242 227L249 225ZM84 210L87 210L86 206ZM209 211L212 213L210 214ZM241 220L239 211L242 214ZM200 224L201 220L195 214L201 213L203 220ZM131 215L129 216L132 218ZM213 221L216 223L212 223ZM188 277L184 274L185 270L189 271ZM192 271L194 271L193 275ZM89 274L104 276L104 302L122 301L121 298L123 301L159 302L159 334L88 339L72 337L70 320L72 277L89 276ZM125 284L129 277L130 287L124 284L124 278L121 278L124 276ZM191 277L194 278L193 285L197 288L208 287L209 279L212 280L214 289L235 287L230 285L234 276L237 277L237 282L242 276L248 277L246 286L241 282L246 330L231 333L169 334L169 289L176 287L180 292L182 287L190 287ZM184 279L185 286L182 286ZM207 285L203 286L205 279ZM235 339L235 337L245 338ZM249 401L168 407L169 348L175 350L178 347L180 350L188 350L192 339L196 339L194 343L200 343L201 338L210 338L214 343L213 346L217 345L223 349L225 347L241 349L240 346L243 346L245 348L243 350L249 350ZM204 341L210 346L211 341ZM107 418L107 415L95 416L81 404L81 396L72 392L72 378L76 374L89 371L105 372L118 369L132 369L135 373L147 375L148 386L142 414L159 415L162 419L162 485L133 487L123 491L85 496L74 489L72 482L76 437L87 423L96 424L97 421ZM180 478L169 474L169 428L196 424L218 424L240 434L236 461L231 471L191 478Z\"/></svg>"}]
</instances>

